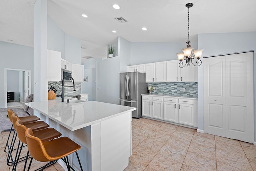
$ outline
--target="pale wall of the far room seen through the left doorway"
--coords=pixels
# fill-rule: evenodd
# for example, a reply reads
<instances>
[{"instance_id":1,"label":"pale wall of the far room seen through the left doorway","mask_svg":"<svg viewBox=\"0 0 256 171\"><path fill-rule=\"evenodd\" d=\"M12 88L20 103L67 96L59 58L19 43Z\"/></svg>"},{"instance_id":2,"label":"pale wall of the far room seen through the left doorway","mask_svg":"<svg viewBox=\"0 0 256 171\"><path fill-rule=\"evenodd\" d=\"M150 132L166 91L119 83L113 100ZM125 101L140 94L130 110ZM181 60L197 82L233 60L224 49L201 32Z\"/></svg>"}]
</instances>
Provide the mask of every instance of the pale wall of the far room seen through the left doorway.
<instances>
[{"instance_id":1,"label":"pale wall of the far room seen through the left doorway","mask_svg":"<svg viewBox=\"0 0 256 171\"><path fill-rule=\"evenodd\" d=\"M20 101L20 72L7 70L7 91L14 91L14 101Z\"/></svg>"}]
</instances>

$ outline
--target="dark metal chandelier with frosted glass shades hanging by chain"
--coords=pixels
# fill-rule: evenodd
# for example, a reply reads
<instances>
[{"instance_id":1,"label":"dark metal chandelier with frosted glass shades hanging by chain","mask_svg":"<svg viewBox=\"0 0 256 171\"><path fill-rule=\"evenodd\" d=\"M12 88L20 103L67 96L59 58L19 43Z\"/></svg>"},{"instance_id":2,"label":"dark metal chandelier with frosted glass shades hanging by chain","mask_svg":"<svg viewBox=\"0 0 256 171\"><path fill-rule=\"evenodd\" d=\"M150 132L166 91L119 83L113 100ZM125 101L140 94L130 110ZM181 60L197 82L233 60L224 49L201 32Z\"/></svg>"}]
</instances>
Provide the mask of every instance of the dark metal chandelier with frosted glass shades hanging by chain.
<instances>
[{"instance_id":1,"label":"dark metal chandelier with frosted glass shades hanging by chain","mask_svg":"<svg viewBox=\"0 0 256 171\"><path fill-rule=\"evenodd\" d=\"M177 53L178 59L180 60L180 63L179 63L180 68L183 68L186 65L190 66L190 64L192 64L193 66L200 66L202 64L202 61L200 60L200 58L202 56L203 49L197 49L191 52L192 49L194 48L191 48L191 45L190 45L191 42L189 41L189 8L192 7L193 5L194 4L192 3L186 4L186 7L188 8L188 42L186 42L186 44L188 45L187 45L187 48L182 49L183 52ZM194 58L196 58L197 60L195 60L193 64ZM182 62L183 60L186 60L186 64Z\"/></svg>"}]
</instances>

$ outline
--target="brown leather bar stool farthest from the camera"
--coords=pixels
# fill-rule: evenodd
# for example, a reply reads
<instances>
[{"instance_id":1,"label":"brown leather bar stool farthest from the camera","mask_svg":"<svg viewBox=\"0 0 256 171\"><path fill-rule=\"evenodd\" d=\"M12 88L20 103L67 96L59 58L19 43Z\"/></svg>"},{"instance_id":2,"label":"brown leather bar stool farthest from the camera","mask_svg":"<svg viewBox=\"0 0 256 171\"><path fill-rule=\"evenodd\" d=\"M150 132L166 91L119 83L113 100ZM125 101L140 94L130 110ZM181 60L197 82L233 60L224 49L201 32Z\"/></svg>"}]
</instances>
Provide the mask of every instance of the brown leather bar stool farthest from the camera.
<instances>
[{"instance_id":1,"label":"brown leather bar stool farthest from the camera","mask_svg":"<svg viewBox=\"0 0 256 171\"><path fill-rule=\"evenodd\" d=\"M8 117L12 123L12 113L14 113L14 111L9 108L7 109L7 113L8 113ZM29 122L34 122L34 121L38 121L40 120L39 117L35 116L35 115L30 115L30 116L24 116L24 117L20 117L20 120L23 122L23 123L29 123ZM11 135L11 132L12 132L12 127L13 127L13 124L11 126L11 129L10 129L10 132L9 132L9 135L8 135L8 138L7 138L7 141L6 141L6 145L5 145L5 148L4 148L4 152L5 153L8 153L9 150L10 150L10 145L8 144L8 141L10 139L10 135ZM15 130L14 130L15 132ZM14 138L14 133L13 133L13 136L12 136L12 141L13 141L13 138ZM11 141L11 144L12 144L12 141ZM8 147L8 151L6 151L6 148Z\"/></svg>"}]
</instances>

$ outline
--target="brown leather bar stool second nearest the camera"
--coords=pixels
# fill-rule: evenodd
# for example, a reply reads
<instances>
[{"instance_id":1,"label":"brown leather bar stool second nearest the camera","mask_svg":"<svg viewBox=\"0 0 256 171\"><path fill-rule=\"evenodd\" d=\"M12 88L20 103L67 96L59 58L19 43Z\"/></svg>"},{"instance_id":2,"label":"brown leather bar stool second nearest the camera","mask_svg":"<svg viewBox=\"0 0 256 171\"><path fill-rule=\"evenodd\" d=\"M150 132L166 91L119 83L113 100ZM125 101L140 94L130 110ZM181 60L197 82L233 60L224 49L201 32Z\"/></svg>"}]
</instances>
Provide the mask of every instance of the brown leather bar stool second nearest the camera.
<instances>
[{"instance_id":1,"label":"brown leather bar stool second nearest the camera","mask_svg":"<svg viewBox=\"0 0 256 171\"><path fill-rule=\"evenodd\" d=\"M16 167L17 167L17 164L18 164L19 158L20 158L20 153L22 151L23 144L27 143L26 137L25 137L25 131L26 131L27 127L23 125L23 123L20 119L18 119L16 121L15 126L16 126L16 132L18 134L18 138L20 139L22 144L21 144L21 147L20 147L20 141L19 141L18 149L20 147L20 151L19 150L16 151L16 155L15 155L15 159L14 159L14 161L16 161L16 162L14 162L14 165L12 167L12 171L16 170ZM54 128L46 128L46 129L41 129L41 130L38 130L38 131L33 131L33 134L34 134L35 137L38 137L42 141L49 141L51 139L58 138L62 135L60 132L58 132ZM26 161L25 161L25 164L24 164L24 169L26 168L26 163L27 163L27 160L28 160L28 154L29 154L29 152L27 152L27 155L26 155Z\"/></svg>"}]
</instances>

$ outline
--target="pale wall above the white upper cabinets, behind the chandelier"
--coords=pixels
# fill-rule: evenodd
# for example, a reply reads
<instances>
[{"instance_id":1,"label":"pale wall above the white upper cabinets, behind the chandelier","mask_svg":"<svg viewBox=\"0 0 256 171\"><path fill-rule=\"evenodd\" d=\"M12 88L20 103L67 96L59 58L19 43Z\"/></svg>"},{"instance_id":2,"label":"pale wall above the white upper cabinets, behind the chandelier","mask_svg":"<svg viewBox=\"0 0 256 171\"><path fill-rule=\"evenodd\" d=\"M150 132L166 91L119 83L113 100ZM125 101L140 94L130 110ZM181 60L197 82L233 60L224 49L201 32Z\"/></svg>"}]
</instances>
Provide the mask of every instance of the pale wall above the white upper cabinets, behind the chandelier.
<instances>
[{"instance_id":1,"label":"pale wall above the white upper cabinets, behind the chandelier","mask_svg":"<svg viewBox=\"0 0 256 171\"><path fill-rule=\"evenodd\" d=\"M192 48L197 49L197 42L192 42ZM177 60L177 53L186 48L186 43L165 42L131 42L131 64L147 64L168 60Z\"/></svg>"}]
</instances>

